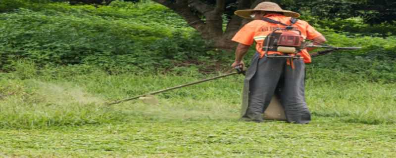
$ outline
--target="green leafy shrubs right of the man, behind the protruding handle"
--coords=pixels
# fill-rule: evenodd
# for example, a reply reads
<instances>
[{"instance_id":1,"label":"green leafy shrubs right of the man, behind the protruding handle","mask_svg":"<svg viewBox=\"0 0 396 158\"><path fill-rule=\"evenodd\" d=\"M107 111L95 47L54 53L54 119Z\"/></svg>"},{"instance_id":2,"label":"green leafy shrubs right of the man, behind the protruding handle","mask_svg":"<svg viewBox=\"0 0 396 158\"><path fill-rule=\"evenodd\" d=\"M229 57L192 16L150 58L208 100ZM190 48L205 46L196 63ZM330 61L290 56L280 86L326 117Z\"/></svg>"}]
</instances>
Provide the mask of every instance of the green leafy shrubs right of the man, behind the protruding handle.
<instances>
[{"instance_id":1,"label":"green leafy shrubs right of the man, behind the protruding handle","mask_svg":"<svg viewBox=\"0 0 396 158\"><path fill-rule=\"evenodd\" d=\"M359 79L372 81L396 82L396 37L348 38L337 34L334 30L319 29L324 33L330 45L334 46L361 46L358 50L343 50L330 55L313 59L308 68L329 69L357 75Z\"/></svg>"}]
</instances>

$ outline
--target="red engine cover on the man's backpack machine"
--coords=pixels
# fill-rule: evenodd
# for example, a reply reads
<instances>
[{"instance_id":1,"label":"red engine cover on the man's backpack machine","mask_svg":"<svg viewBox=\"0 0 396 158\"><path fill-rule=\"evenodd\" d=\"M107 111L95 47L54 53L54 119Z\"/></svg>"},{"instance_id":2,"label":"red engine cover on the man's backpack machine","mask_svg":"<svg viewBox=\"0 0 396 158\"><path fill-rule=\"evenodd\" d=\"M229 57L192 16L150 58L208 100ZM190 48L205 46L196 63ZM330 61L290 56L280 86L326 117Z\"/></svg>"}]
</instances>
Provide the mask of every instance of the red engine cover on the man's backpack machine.
<instances>
[{"instance_id":1,"label":"red engine cover on the man's backpack machine","mask_svg":"<svg viewBox=\"0 0 396 158\"><path fill-rule=\"evenodd\" d=\"M278 45L299 47L302 40L302 37L298 33L293 31L287 31L283 32L279 37Z\"/></svg>"}]
</instances>

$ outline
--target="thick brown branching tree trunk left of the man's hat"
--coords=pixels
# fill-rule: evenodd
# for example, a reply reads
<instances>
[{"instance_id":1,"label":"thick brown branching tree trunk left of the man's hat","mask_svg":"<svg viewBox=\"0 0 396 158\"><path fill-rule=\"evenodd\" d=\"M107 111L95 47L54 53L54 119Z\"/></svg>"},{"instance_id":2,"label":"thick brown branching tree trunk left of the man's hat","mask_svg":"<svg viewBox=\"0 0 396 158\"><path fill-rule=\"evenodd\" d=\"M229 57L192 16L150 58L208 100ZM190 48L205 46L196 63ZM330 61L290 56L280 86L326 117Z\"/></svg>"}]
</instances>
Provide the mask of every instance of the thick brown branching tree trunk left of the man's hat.
<instances>
[{"instance_id":1,"label":"thick brown branching tree trunk left of the man's hat","mask_svg":"<svg viewBox=\"0 0 396 158\"><path fill-rule=\"evenodd\" d=\"M248 20L233 15L227 23L226 29L223 30L222 15L225 10L226 0L216 0L215 6L206 4L200 0L153 0L165 5L177 14L182 16L187 23L196 29L203 39L209 40L214 48L233 50L237 43L231 39ZM249 9L261 1L269 0L238 0L238 10ZM205 17L205 20L199 18L194 11Z\"/></svg>"}]
</instances>

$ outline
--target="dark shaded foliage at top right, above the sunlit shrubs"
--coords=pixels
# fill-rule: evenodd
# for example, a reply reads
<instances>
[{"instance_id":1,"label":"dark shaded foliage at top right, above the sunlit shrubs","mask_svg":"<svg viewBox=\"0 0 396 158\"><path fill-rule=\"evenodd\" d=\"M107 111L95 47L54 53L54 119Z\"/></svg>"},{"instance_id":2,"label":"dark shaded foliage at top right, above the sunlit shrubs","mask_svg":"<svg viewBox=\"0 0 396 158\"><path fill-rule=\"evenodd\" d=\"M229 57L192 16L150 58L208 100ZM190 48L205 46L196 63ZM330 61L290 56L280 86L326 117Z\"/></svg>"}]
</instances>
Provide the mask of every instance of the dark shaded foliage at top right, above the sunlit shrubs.
<instances>
[{"instance_id":1,"label":"dark shaded foliage at top right, above the sunlit shrubs","mask_svg":"<svg viewBox=\"0 0 396 158\"><path fill-rule=\"evenodd\" d=\"M320 19L361 16L369 24L394 24L395 6L394 0L294 0L287 8Z\"/></svg>"}]
</instances>

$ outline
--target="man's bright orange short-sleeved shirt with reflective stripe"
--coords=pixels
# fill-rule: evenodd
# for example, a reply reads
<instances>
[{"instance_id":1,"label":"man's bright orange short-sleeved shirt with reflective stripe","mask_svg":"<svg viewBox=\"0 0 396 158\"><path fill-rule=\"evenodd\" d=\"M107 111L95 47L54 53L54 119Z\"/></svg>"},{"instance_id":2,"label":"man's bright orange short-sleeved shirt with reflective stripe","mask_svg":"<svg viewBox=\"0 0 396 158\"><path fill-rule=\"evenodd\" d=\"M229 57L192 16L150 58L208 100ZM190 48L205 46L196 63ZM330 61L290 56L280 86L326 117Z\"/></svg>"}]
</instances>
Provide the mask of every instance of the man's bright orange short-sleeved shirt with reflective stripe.
<instances>
[{"instance_id":1,"label":"man's bright orange short-sleeved shirt with reflective stripe","mask_svg":"<svg viewBox=\"0 0 396 158\"><path fill-rule=\"evenodd\" d=\"M291 24L291 17L287 17L282 14L268 14L264 17L279 21L286 25ZM303 20L298 20L295 24L293 24L293 27L301 31L301 36L304 39L312 40L322 36L322 34L317 32L311 25ZM277 28L285 28L285 26L269 23L264 20L253 20L242 27L232 40L245 45L251 45L253 44L253 41L255 41L256 50L258 53L260 53L260 58L262 58L264 56L264 50L262 50L263 41L268 34ZM306 49L301 50L299 53L301 54L301 57L304 58L305 63L311 63L311 57L309 56L309 53ZM281 54L281 52L268 51L268 54Z\"/></svg>"}]
</instances>

